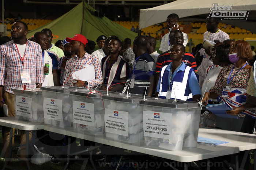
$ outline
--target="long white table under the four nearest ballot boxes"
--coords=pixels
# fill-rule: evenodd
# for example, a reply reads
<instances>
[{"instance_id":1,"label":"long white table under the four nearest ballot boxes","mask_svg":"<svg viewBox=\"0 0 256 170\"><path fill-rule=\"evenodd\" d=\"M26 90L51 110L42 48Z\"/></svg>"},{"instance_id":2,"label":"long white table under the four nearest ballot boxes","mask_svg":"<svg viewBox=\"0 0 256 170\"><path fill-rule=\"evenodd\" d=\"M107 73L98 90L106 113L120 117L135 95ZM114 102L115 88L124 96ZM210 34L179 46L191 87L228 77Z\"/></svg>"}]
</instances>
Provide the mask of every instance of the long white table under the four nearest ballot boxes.
<instances>
[{"instance_id":1,"label":"long white table under the four nearest ballot boxes","mask_svg":"<svg viewBox=\"0 0 256 170\"><path fill-rule=\"evenodd\" d=\"M239 153L239 147L233 145L232 143L227 143L215 147L197 144L195 148L185 149L181 151L168 151L161 149L152 149L146 146L135 146L113 139L107 139L104 136L98 137L78 133L74 131L73 127L64 129L56 126L45 125L44 130L185 163ZM187 170L188 167L185 166L184 169Z\"/></svg>"}]
</instances>

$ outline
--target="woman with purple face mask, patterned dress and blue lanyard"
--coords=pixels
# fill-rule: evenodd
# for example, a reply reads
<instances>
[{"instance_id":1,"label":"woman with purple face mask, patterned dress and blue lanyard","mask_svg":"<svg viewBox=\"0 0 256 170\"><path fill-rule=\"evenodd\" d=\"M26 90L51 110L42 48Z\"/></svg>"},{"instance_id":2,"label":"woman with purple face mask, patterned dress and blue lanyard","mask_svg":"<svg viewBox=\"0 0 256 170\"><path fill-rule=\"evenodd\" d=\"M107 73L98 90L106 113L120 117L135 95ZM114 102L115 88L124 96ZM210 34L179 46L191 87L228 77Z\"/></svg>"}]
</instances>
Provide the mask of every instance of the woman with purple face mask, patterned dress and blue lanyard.
<instances>
[{"instance_id":1,"label":"woman with purple face mask, patterned dress and blue lanyard","mask_svg":"<svg viewBox=\"0 0 256 170\"><path fill-rule=\"evenodd\" d=\"M246 103L246 88L250 78L251 66L246 63L252 58L251 47L244 40L235 41L230 46L229 60L231 64L219 72L214 86L204 94L202 101L207 105L209 98L227 102L233 110L227 114L237 115L238 119L216 117L216 127L225 130L252 133L255 120L246 116L243 111L252 107ZM246 110L248 111L248 110Z\"/></svg>"}]
</instances>

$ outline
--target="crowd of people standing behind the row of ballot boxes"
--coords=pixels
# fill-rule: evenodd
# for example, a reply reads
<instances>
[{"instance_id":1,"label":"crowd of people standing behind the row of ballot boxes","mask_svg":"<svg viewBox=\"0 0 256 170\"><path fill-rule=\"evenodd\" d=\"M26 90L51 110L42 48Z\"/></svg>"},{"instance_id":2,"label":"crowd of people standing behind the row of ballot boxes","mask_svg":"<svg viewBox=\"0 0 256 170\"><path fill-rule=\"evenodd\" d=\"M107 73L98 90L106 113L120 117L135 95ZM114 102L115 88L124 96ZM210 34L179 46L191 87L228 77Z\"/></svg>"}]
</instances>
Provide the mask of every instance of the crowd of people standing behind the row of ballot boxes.
<instances>
[{"instance_id":1,"label":"crowd of people standing behind the row of ballot boxes","mask_svg":"<svg viewBox=\"0 0 256 170\"><path fill-rule=\"evenodd\" d=\"M207 48L198 44L191 54L185 51L189 37L178 29L178 19L177 14L167 16L168 32L156 37L148 33L121 41L116 35L99 35L96 51L94 40L80 34L53 44L50 29L36 32L27 40L26 24L16 21L12 40L0 38L0 105L7 104L9 116L14 116L12 88L24 85L98 86L100 90L200 101L205 105L227 102L233 110L226 113L238 119L222 118L206 110L214 126L252 133L256 117L254 47L244 40L230 40L218 29L218 19L207 18L203 39L215 44ZM138 27L132 26L131 31L138 32ZM158 39L161 54L155 50ZM73 72L87 67L94 68L95 79L72 78ZM8 142L10 129L5 128L3 136Z\"/></svg>"}]
</instances>

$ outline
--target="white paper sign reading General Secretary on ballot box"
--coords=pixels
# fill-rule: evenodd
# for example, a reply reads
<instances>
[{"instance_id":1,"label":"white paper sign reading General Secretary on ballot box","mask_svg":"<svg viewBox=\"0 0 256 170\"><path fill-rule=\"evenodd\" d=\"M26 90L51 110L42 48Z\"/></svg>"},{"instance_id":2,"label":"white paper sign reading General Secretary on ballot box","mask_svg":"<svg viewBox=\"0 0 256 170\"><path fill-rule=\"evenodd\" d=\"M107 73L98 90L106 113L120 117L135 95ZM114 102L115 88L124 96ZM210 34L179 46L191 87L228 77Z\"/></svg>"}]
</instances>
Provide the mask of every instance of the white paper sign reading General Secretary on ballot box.
<instances>
[{"instance_id":1,"label":"white paper sign reading General Secretary on ballot box","mask_svg":"<svg viewBox=\"0 0 256 170\"><path fill-rule=\"evenodd\" d=\"M73 101L74 123L94 127L94 103Z\"/></svg>"}]
</instances>

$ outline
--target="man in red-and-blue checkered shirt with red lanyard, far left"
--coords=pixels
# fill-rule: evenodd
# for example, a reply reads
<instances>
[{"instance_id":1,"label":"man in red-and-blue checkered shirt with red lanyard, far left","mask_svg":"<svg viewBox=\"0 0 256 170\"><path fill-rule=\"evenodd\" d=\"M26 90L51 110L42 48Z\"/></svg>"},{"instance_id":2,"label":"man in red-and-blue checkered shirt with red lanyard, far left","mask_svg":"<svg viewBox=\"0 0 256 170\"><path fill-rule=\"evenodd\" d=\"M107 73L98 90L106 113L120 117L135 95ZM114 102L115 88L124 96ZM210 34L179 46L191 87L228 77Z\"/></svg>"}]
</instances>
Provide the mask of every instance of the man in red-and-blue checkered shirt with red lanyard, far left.
<instances>
[{"instance_id":1,"label":"man in red-and-blue checkered shirt with red lanyard, far left","mask_svg":"<svg viewBox=\"0 0 256 170\"><path fill-rule=\"evenodd\" d=\"M34 88L44 81L42 50L39 44L27 40L27 24L16 21L11 27L12 41L0 46L0 106L7 104L9 116L15 116L14 94L12 88ZM28 70L31 82L22 83L22 70ZM39 84L37 87L41 87ZM14 146L14 134L12 144ZM31 140L32 133L29 132ZM25 158L26 134L21 131L20 158ZM5 127L4 143L7 150L4 157L8 157L10 128ZM13 156L12 156L13 157Z\"/></svg>"}]
</instances>

